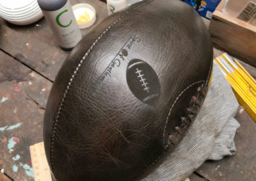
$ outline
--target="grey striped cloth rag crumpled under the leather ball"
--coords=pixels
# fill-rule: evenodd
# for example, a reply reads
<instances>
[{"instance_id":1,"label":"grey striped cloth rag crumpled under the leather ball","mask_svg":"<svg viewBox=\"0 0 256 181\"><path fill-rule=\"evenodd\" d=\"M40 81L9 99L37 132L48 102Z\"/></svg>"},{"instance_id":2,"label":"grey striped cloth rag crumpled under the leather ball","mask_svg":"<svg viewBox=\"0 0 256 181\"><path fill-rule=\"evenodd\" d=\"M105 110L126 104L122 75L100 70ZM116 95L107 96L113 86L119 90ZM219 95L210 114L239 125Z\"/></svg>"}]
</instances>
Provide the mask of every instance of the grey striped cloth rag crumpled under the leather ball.
<instances>
[{"instance_id":1,"label":"grey striped cloth rag crumpled under the leather ball","mask_svg":"<svg viewBox=\"0 0 256 181\"><path fill-rule=\"evenodd\" d=\"M234 155L234 136L240 126L234 119L237 108L229 83L214 65L211 85L195 122L168 159L143 181L185 180L205 160Z\"/></svg>"}]
</instances>

